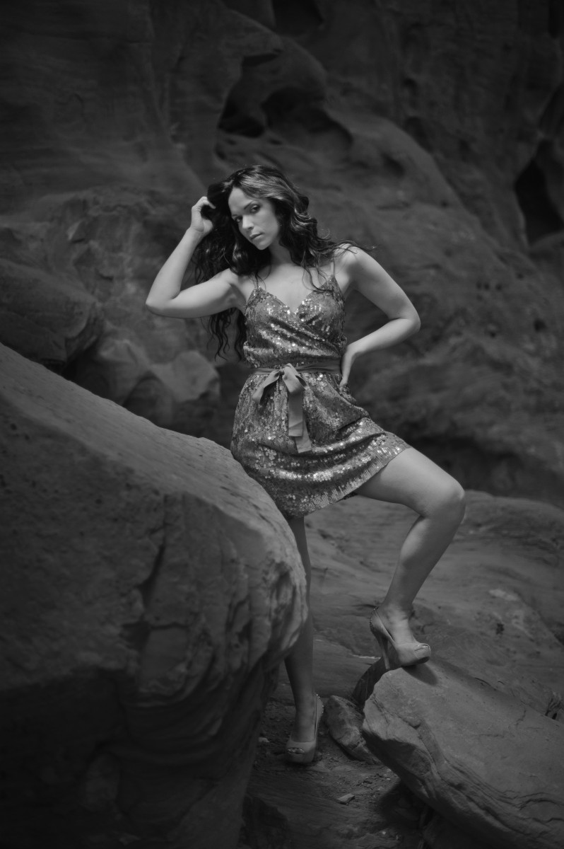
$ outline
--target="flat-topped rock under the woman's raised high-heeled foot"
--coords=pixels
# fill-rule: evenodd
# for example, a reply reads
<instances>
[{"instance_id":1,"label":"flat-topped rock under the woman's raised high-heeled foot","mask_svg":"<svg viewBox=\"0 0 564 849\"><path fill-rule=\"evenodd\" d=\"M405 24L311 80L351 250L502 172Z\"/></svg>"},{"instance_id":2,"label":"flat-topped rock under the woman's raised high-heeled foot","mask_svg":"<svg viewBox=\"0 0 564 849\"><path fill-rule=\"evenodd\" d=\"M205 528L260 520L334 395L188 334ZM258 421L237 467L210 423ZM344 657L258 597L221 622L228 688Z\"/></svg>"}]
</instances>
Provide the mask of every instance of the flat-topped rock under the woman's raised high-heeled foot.
<instances>
[{"instance_id":1,"label":"flat-topped rock under the woman's raised high-heeled foot","mask_svg":"<svg viewBox=\"0 0 564 849\"><path fill-rule=\"evenodd\" d=\"M371 751L431 807L499 849L564 841L564 728L456 666L383 676L365 705ZM549 767L550 765L550 767Z\"/></svg>"}]
</instances>

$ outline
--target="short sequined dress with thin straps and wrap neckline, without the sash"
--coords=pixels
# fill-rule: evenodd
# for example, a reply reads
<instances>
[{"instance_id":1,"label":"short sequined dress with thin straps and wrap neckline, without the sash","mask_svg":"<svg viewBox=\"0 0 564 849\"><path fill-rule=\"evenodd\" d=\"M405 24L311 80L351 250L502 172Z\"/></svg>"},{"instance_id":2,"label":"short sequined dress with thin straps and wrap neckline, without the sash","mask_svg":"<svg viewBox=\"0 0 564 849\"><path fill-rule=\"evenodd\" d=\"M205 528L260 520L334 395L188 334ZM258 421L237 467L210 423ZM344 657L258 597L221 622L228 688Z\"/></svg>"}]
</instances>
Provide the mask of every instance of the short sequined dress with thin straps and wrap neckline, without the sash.
<instances>
[{"instance_id":1,"label":"short sequined dress with thin straps and wrap neckline, without the sash","mask_svg":"<svg viewBox=\"0 0 564 849\"><path fill-rule=\"evenodd\" d=\"M334 275L312 290L295 312L257 285L245 318L244 357L262 371L250 374L243 385L231 450L288 519L346 498L408 447L375 424L346 386L339 390L339 374L299 373L310 438L305 451L288 434L288 388L282 376L271 378L256 400L269 369L282 369L286 363L315 369L316 363L338 363L343 356L344 301Z\"/></svg>"}]
</instances>

